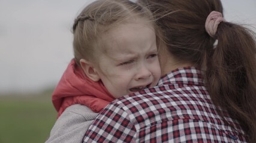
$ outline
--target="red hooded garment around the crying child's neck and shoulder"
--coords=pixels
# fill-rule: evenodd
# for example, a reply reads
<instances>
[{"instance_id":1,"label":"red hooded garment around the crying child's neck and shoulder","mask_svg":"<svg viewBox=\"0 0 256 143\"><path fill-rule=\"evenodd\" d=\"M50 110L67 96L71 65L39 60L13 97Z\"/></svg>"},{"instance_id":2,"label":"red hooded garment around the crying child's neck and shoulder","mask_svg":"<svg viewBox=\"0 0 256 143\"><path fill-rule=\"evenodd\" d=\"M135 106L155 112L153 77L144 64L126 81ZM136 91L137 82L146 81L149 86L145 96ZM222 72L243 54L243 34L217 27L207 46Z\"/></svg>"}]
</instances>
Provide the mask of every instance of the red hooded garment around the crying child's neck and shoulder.
<instances>
[{"instance_id":1,"label":"red hooded garment around the crying child's neck and shoulder","mask_svg":"<svg viewBox=\"0 0 256 143\"><path fill-rule=\"evenodd\" d=\"M94 82L71 60L53 91L52 102L58 111L58 117L73 104L82 104L99 113L115 98L107 91L103 83Z\"/></svg>"}]
</instances>

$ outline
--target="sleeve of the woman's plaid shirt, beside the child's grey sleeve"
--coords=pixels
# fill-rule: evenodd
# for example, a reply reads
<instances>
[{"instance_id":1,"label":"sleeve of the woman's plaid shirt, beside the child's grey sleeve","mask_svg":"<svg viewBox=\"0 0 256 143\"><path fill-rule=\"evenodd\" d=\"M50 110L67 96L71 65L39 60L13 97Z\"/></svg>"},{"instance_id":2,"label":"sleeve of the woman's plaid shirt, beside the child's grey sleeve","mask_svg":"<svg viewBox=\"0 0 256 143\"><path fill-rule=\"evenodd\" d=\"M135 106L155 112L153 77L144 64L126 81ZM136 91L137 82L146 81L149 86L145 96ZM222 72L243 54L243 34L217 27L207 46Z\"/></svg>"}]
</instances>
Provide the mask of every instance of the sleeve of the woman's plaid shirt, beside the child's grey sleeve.
<instances>
[{"instance_id":1,"label":"sleeve of the woman's plaid shirt, beside the child's grey sleeve","mask_svg":"<svg viewBox=\"0 0 256 143\"><path fill-rule=\"evenodd\" d=\"M136 131L129 114L108 105L85 133L83 142L135 142Z\"/></svg>"}]
</instances>

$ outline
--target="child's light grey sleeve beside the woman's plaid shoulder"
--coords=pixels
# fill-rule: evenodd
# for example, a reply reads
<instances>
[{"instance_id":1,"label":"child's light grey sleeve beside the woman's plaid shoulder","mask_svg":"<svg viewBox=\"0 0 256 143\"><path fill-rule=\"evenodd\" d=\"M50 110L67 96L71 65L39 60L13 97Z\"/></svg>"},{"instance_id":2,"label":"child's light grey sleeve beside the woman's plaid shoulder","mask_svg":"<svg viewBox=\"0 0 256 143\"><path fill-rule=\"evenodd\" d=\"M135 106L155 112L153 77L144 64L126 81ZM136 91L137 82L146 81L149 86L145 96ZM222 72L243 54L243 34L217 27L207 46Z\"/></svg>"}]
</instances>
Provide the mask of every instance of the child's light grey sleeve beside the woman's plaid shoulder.
<instances>
[{"instance_id":1,"label":"child's light grey sleeve beside the woman's plaid shoulder","mask_svg":"<svg viewBox=\"0 0 256 143\"><path fill-rule=\"evenodd\" d=\"M97 115L85 105L71 105L56 120L46 143L82 142L86 130Z\"/></svg>"}]
</instances>

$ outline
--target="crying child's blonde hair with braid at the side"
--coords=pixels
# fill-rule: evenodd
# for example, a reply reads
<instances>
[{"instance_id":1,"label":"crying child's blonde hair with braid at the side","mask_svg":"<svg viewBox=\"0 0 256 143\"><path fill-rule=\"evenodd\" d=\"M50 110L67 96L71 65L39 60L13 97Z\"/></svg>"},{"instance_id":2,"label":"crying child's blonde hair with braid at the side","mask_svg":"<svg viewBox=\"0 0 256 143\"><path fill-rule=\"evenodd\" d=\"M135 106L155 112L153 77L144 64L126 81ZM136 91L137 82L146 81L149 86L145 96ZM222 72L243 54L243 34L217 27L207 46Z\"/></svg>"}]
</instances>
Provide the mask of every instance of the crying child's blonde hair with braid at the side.
<instances>
[{"instance_id":1,"label":"crying child's blonde hair with braid at the side","mask_svg":"<svg viewBox=\"0 0 256 143\"><path fill-rule=\"evenodd\" d=\"M128 0L98 0L89 4L74 20L73 48L77 65L80 59L94 59L94 51L101 45L100 37L116 24L134 22L141 19L154 27L156 42L160 34L153 21L152 13L145 7ZM158 44L159 45L159 44Z\"/></svg>"}]
</instances>

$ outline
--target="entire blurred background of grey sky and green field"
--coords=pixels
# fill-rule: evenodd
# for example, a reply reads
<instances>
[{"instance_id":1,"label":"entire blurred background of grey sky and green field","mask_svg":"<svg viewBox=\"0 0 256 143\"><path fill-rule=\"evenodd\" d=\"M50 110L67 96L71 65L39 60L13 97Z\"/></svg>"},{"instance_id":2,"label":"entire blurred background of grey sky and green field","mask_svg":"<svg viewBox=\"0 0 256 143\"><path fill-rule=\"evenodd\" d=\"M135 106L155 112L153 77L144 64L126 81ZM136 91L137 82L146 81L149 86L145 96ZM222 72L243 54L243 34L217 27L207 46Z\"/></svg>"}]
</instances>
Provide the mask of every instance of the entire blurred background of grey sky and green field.
<instances>
[{"instance_id":1,"label":"entire blurred background of grey sky and green field","mask_svg":"<svg viewBox=\"0 0 256 143\"><path fill-rule=\"evenodd\" d=\"M94 0L0 0L0 142L44 142L51 94L73 57L73 20ZM227 21L256 32L256 0L222 0Z\"/></svg>"}]
</instances>

